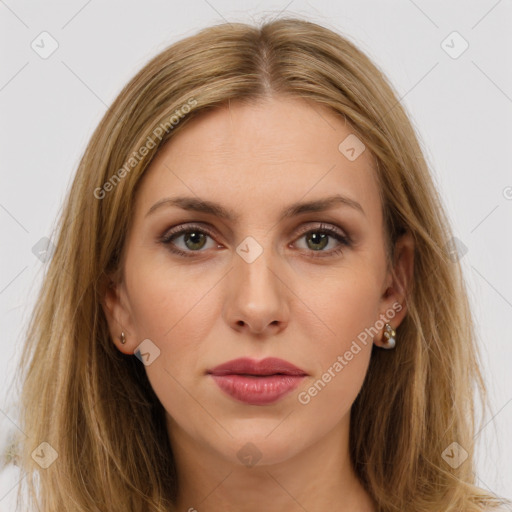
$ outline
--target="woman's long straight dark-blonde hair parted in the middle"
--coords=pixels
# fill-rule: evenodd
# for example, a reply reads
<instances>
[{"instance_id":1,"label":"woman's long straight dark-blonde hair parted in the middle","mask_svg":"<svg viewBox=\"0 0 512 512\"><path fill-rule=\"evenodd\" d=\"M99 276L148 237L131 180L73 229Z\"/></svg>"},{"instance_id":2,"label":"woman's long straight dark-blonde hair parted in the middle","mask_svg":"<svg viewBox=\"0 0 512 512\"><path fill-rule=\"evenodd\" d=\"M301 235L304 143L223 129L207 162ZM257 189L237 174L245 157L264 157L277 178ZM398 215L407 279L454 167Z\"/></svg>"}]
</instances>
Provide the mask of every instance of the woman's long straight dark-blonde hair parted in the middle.
<instances>
[{"instance_id":1,"label":"woman's long straight dark-blonde hair parted in the middle","mask_svg":"<svg viewBox=\"0 0 512 512\"><path fill-rule=\"evenodd\" d=\"M107 276L121 271L137 184L158 149L207 109L279 94L327 106L351 124L378 163L389 247L404 230L416 243L397 347L374 351L352 407L357 475L382 512L499 503L474 483L473 389L485 405L485 386L461 268L447 250L452 233L413 127L366 55L299 19L222 24L173 44L126 85L94 132L20 365L29 441L19 499L26 485L43 512L174 509L165 411L143 365L110 339L101 307ZM41 442L58 454L46 469L31 457ZM443 458L453 442L468 453L457 468Z\"/></svg>"}]
</instances>

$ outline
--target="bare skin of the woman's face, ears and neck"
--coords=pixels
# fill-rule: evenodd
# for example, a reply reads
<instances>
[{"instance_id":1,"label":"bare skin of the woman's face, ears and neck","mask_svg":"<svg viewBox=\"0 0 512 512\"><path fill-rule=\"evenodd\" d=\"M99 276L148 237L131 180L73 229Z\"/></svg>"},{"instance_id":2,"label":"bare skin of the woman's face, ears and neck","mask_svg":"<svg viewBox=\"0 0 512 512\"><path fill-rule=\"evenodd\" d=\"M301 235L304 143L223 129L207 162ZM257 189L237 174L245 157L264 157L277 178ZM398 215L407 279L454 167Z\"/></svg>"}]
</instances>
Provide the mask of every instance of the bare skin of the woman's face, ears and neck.
<instances>
[{"instance_id":1,"label":"bare skin of the woman's face, ears and neck","mask_svg":"<svg viewBox=\"0 0 512 512\"><path fill-rule=\"evenodd\" d=\"M371 153L350 161L338 150L350 133L341 117L305 100L232 102L178 132L142 179L123 279L107 292L104 309L120 351L133 354L144 339L160 350L145 368L167 411L177 510L313 512L333 503L340 511L377 510L350 463L349 422L382 329L359 343L309 403L298 401L393 304L402 305L390 321L395 329L406 314L413 242L409 235L397 242L393 277ZM338 205L279 221L289 204L333 193L359 202L364 214ZM177 195L218 202L240 217L175 206L146 216L157 201ZM177 235L175 245L192 257L159 242L171 227L191 222L212 233L188 244ZM320 223L348 234L352 245L312 239L307 232L318 233ZM263 249L251 263L236 252L247 236ZM324 257L315 257L319 252ZM244 356L280 357L308 376L276 403L247 405L205 373ZM254 452L256 464L249 467L240 450Z\"/></svg>"}]
</instances>

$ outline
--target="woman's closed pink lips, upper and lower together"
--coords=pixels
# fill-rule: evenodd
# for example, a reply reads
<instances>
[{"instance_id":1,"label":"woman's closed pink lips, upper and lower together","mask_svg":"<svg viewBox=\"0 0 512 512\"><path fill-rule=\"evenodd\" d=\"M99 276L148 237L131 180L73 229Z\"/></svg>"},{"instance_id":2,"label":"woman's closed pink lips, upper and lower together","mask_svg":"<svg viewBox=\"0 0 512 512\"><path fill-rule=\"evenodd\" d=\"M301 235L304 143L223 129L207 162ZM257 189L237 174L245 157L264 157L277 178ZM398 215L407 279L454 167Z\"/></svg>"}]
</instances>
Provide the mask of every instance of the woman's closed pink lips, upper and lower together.
<instances>
[{"instance_id":1,"label":"woman's closed pink lips, upper and lower together","mask_svg":"<svg viewBox=\"0 0 512 512\"><path fill-rule=\"evenodd\" d=\"M219 388L239 402L250 405L274 403L295 389L308 374L275 357L260 361L233 359L207 371Z\"/></svg>"}]
</instances>

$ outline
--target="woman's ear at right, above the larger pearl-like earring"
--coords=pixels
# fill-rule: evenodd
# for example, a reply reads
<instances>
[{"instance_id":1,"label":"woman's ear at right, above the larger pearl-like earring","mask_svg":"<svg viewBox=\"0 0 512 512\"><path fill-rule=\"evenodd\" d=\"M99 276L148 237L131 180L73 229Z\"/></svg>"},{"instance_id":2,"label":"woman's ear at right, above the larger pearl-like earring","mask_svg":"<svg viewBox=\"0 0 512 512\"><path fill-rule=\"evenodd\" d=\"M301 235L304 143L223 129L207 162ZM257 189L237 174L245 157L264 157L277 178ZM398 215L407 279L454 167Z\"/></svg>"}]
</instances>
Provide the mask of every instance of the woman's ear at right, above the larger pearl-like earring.
<instances>
[{"instance_id":1,"label":"woman's ear at right, above the larger pearl-like earring","mask_svg":"<svg viewBox=\"0 0 512 512\"><path fill-rule=\"evenodd\" d=\"M407 231L395 243L393 265L388 268L386 274L381 297L380 318L395 330L407 314L406 297L412 288L414 275L414 248L414 238L410 231ZM382 338L382 333L375 337L377 346L384 346Z\"/></svg>"}]
</instances>

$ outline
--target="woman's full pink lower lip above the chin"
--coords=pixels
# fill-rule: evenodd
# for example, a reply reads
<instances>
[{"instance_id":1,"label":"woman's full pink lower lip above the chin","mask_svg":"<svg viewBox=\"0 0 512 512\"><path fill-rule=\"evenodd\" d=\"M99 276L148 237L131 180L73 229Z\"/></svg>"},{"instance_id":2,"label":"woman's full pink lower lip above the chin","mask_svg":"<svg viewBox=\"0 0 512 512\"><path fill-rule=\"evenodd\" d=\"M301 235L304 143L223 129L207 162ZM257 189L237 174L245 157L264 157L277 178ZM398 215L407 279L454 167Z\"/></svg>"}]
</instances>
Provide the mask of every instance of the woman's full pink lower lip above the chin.
<instances>
[{"instance_id":1,"label":"woman's full pink lower lip above the chin","mask_svg":"<svg viewBox=\"0 0 512 512\"><path fill-rule=\"evenodd\" d=\"M222 391L235 400L250 405L266 405L283 398L295 389L304 375L212 375Z\"/></svg>"}]
</instances>

